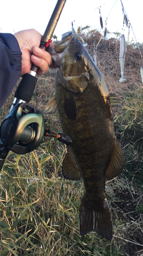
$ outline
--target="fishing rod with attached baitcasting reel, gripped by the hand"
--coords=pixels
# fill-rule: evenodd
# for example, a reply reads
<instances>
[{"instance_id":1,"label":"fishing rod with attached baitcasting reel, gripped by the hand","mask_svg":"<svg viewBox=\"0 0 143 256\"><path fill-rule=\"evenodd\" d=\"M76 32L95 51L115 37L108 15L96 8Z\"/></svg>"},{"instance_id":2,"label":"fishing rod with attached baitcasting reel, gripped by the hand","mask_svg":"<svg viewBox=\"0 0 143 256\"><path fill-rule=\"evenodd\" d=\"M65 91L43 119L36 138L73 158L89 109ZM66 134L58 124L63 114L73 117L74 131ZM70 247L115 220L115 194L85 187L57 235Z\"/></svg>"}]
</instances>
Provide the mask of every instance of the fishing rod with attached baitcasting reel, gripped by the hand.
<instances>
[{"instance_id":1,"label":"fishing rod with attached baitcasting reel, gripped by the hand","mask_svg":"<svg viewBox=\"0 0 143 256\"><path fill-rule=\"evenodd\" d=\"M66 0L58 0L50 17L47 28L41 39L40 48L48 50L54 29ZM0 127L0 170L11 150L16 154L26 154L35 150L42 142L43 136L55 137L59 141L70 145L71 138L65 134L56 134L45 129L45 119L41 111L28 102L31 100L37 83L38 67L32 63L29 73L24 74L12 103L8 116Z\"/></svg>"}]
</instances>

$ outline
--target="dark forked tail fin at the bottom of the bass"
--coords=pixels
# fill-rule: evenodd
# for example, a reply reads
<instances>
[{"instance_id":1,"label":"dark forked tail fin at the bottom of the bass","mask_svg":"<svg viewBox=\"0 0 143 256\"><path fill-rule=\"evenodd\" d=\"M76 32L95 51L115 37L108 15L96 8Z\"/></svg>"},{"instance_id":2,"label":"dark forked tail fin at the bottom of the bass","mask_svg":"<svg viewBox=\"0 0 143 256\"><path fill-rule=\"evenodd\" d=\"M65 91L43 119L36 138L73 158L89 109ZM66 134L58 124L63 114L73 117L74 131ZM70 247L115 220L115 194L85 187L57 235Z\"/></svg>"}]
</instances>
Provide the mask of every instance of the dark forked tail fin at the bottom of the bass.
<instances>
[{"instance_id":1,"label":"dark forked tail fin at the bottom of the bass","mask_svg":"<svg viewBox=\"0 0 143 256\"><path fill-rule=\"evenodd\" d=\"M81 236L94 230L103 238L112 240L111 213L106 199L102 206L100 205L99 208L94 207L92 209L89 201L84 200L83 197L79 210L79 218Z\"/></svg>"}]
</instances>

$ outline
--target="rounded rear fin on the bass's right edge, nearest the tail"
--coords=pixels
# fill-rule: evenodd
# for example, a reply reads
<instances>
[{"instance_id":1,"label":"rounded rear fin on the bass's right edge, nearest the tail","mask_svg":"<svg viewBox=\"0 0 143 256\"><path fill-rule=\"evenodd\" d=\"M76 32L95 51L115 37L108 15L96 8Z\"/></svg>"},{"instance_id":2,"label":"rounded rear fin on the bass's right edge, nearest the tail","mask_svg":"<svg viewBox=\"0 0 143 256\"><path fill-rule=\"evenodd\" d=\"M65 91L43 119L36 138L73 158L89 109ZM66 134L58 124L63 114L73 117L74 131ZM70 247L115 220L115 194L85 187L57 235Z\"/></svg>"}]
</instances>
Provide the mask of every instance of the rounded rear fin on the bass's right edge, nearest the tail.
<instances>
[{"instance_id":1,"label":"rounded rear fin on the bass's right edge, nearest the tail","mask_svg":"<svg viewBox=\"0 0 143 256\"><path fill-rule=\"evenodd\" d=\"M121 174L124 168L124 165L125 165L124 151L120 146L120 142L117 139L115 139L115 145L113 148L111 161L106 170L106 179L111 180L117 177L119 174Z\"/></svg>"}]
</instances>

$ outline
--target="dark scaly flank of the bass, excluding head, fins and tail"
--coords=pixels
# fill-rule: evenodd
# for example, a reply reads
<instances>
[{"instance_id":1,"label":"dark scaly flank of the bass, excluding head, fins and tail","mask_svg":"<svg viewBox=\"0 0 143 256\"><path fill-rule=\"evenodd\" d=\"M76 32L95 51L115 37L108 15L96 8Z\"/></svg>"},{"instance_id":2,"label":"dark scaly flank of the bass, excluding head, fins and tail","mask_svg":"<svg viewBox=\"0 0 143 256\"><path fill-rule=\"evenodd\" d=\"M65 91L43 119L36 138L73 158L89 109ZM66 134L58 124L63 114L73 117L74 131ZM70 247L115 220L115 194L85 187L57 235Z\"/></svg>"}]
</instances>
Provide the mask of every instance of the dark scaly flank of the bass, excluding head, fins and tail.
<instances>
[{"instance_id":1,"label":"dark scaly flank of the bass, excluding head, fins and tail","mask_svg":"<svg viewBox=\"0 0 143 256\"><path fill-rule=\"evenodd\" d=\"M71 121L65 115L64 110L63 95L66 96L68 94L68 90L63 90L63 86L60 83L56 82L55 85L55 97L58 104L59 120L62 131L63 133L68 134L72 138L73 143L70 146L70 151L73 154L77 167L81 170L82 177L84 177L84 175L86 176L87 173L89 175L87 169L92 172L91 168L95 169L96 166L99 165L100 169L103 168L103 175L105 176L106 168L109 165L113 150L113 141L115 135L113 129L112 115L108 114L106 108L104 108L105 111L103 113L103 108L99 107L102 106L101 102L103 103L102 95L99 92L100 97L97 97L96 90L94 90L93 93L92 87L94 87L94 85L91 82L88 89L85 90L82 94L74 95L77 104L77 116L74 121ZM97 101L96 97L98 98ZM87 104L84 103L85 99ZM96 113L96 115L94 115L94 113ZM111 120L108 120L108 116L111 118ZM107 119L105 117L107 117ZM102 127L100 125L101 122L103 124ZM97 127L99 127L99 125L100 130L97 130ZM108 129L106 129L106 127L108 127ZM98 151L99 147L100 151ZM82 154L79 154L79 152L81 151ZM103 155L104 159L107 158L105 162L103 161ZM94 174L94 172L92 172L92 175L95 175L96 179L97 173L95 172ZM98 180L100 180L100 176L102 178L103 175L101 169L101 172L98 174L97 182ZM84 183L86 183L86 180L87 179L85 179Z\"/></svg>"}]
</instances>

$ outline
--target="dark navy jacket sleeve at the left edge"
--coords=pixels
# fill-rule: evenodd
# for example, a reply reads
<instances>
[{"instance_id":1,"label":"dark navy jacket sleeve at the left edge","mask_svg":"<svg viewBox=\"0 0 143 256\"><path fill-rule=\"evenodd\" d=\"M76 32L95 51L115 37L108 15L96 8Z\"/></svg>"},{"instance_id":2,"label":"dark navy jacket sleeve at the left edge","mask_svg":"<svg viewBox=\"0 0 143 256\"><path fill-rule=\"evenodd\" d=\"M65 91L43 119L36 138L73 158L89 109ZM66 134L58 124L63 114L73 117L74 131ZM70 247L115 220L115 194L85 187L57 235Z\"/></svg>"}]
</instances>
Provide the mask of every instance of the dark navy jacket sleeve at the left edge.
<instances>
[{"instance_id":1,"label":"dark navy jacket sleeve at the left edge","mask_svg":"<svg viewBox=\"0 0 143 256\"><path fill-rule=\"evenodd\" d=\"M21 75L21 55L15 36L0 33L0 108Z\"/></svg>"}]
</instances>

